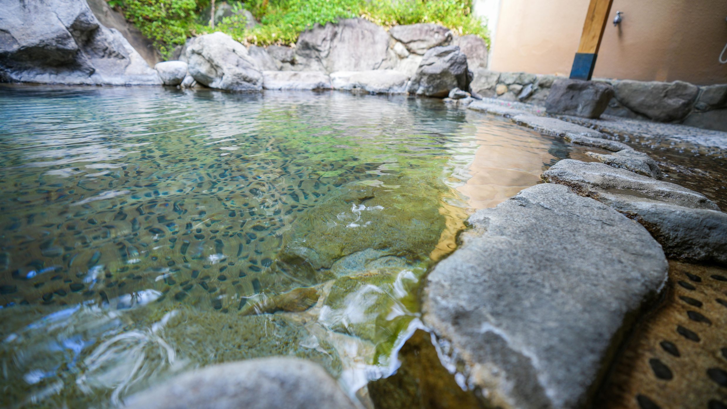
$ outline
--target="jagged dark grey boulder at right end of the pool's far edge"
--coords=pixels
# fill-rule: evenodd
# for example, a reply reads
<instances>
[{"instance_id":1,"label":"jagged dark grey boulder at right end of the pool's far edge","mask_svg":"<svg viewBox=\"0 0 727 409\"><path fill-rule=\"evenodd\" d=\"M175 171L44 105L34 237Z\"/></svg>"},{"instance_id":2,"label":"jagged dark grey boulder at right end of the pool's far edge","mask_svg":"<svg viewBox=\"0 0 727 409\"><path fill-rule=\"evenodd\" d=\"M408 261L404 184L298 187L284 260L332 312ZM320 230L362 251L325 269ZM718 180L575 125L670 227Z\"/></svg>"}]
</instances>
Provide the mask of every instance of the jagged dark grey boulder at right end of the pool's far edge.
<instances>
[{"instance_id":1,"label":"jagged dark grey boulder at right end of the pool's far edge","mask_svg":"<svg viewBox=\"0 0 727 409\"><path fill-rule=\"evenodd\" d=\"M452 88L470 89L472 73L467 57L458 46L438 46L424 54L422 63L411 78L409 92L427 97L446 97Z\"/></svg>"}]
</instances>

